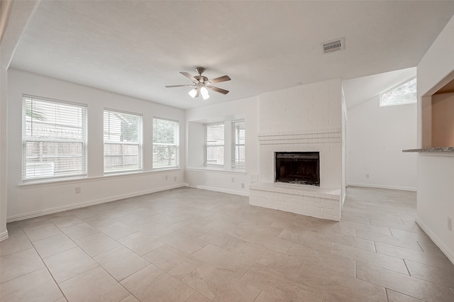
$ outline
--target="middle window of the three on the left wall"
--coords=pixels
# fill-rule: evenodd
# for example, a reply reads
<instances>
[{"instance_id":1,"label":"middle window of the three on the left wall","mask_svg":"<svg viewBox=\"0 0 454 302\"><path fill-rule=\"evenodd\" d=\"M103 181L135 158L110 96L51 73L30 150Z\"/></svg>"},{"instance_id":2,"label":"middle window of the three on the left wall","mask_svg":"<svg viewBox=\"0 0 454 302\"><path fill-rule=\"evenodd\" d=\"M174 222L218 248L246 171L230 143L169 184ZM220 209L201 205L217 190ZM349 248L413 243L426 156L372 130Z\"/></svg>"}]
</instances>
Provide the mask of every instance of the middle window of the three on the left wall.
<instances>
[{"instance_id":1,"label":"middle window of the three on the left wall","mask_svg":"<svg viewBox=\"0 0 454 302\"><path fill-rule=\"evenodd\" d=\"M142 169L142 116L104 109L104 174Z\"/></svg>"}]
</instances>

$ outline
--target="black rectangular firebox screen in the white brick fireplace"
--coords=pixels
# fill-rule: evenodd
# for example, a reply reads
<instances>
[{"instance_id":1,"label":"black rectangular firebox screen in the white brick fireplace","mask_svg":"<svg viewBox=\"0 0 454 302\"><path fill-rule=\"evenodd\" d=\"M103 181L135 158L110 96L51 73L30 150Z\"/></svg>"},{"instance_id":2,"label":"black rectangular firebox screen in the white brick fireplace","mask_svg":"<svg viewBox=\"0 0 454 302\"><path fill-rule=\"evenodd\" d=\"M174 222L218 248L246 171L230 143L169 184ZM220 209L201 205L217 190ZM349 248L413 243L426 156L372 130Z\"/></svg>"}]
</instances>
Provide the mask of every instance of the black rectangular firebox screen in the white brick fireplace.
<instances>
[{"instance_id":1,"label":"black rectangular firebox screen in the white brick fireplace","mask_svg":"<svg viewBox=\"0 0 454 302\"><path fill-rule=\"evenodd\" d=\"M275 152L275 181L320 186L319 152Z\"/></svg>"}]
</instances>

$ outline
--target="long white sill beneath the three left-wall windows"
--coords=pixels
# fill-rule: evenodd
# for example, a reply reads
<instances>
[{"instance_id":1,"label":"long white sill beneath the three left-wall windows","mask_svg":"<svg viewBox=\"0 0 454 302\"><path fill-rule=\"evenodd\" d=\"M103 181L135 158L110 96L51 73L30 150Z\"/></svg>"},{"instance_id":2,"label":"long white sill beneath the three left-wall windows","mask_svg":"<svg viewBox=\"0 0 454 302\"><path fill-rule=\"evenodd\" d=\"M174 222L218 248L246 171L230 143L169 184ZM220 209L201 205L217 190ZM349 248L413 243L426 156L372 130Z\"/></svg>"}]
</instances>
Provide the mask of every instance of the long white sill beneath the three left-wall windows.
<instances>
[{"instance_id":1,"label":"long white sill beneath the three left-wall windows","mask_svg":"<svg viewBox=\"0 0 454 302\"><path fill-rule=\"evenodd\" d=\"M23 189L33 188L38 186L60 186L63 184L78 184L87 181L103 181L107 179L116 179L116 178L125 178L125 177L140 177L148 174L157 174L164 171L179 171L181 168L173 167L173 168L160 168L160 169L153 169L151 171L140 171L140 172L130 172L130 173L122 173L122 174L106 174L101 177L73 177L73 178L65 178L65 179L52 179L52 180L43 180L43 181L26 181L21 182L17 186Z\"/></svg>"}]
</instances>

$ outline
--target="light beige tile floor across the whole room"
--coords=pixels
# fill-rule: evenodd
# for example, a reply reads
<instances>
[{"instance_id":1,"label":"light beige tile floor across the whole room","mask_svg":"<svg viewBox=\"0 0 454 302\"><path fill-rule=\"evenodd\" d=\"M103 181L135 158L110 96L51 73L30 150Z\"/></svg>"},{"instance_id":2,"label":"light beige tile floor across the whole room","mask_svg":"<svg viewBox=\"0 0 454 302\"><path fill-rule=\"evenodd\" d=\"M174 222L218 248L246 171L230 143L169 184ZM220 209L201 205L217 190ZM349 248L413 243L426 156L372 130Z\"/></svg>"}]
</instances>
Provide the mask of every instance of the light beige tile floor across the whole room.
<instances>
[{"instance_id":1,"label":"light beige tile floor across the whole room","mask_svg":"<svg viewBox=\"0 0 454 302\"><path fill-rule=\"evenodd\" d=\"M341 222L181 188L9 223L1 301L454 301L416 194L349 187Z\"/></svg>"}]
</instances>

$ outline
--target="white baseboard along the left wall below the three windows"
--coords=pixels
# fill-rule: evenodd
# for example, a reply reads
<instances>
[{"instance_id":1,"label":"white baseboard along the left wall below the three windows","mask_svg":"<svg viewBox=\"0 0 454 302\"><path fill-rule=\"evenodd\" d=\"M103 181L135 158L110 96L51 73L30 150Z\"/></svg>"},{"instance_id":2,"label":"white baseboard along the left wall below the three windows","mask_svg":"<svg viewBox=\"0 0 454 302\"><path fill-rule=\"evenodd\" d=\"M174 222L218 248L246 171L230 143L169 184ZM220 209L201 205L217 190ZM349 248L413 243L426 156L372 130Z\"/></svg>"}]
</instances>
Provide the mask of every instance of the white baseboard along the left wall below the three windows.
<instances>
[{"instance_id":1,"label":"white baseboard along the left wall below the three windows","mask_svg":"<svg viewBox=\"0 0 454 302\"><path fill-rule=\"evenodd\" d=\"M86 206L95 206L96 204L106 203L106 202L110 202L110 201L118 201L119 199L123 199L123 198L131 198L131 197L135 197L135 196L151 194L151 193L166 191L166 190L170 190L170 189L177 189L177 188L181 188L182 186L188 186L188 184L174 184L172 186L161 186L160 188L149 189L149 190L145 190L145 191L136 191L136 192L128 193L128 194L121 194L121 195L110 196L110 197L106 197L106 198L99 198L99 199L95 199L92 201L84 201L82 203L75 203L75 204L68 205L68 206L59 206L57 208L48 208L45 210L40 210L40 211L35 211L35 212L30 212L30 213L25 213L25 214L19 214L19 215L7 217L6 223L12 223L13 221L35 218L35 217L39 217L39 216L45 216L48 214L58 213L58 212L62 212L62 211L74 210L75 208L84 208Z\"/></svg>"}]
</instances>

